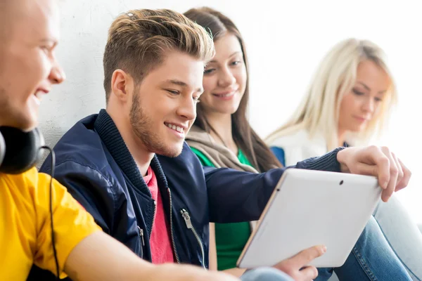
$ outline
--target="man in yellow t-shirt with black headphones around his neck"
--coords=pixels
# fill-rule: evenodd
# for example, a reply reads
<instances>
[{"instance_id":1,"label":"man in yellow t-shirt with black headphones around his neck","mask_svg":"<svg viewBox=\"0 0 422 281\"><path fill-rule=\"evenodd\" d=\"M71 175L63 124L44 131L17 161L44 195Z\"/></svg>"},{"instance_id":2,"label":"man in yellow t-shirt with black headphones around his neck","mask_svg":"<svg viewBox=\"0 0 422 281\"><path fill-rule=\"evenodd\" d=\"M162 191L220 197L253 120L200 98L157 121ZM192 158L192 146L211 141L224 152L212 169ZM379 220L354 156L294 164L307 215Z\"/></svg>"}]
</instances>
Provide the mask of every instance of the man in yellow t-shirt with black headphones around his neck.
<instances>
[{"instance_id":1,"label":"man in yellow t-shirt with black headphones around his neck","mask_svg":"<svg viewBox=\"0 0 422 281\"><path fill-rule=\"evenodd\" d=\"M34 263L75 280L236 280L139 259L63 185L37 172L41 96L65 79L54 55L58 16L56 0L0 0L0 279L26 280ZM245 280L265 275L286 280L265 270Z\"/></svg>"}]
</instances>

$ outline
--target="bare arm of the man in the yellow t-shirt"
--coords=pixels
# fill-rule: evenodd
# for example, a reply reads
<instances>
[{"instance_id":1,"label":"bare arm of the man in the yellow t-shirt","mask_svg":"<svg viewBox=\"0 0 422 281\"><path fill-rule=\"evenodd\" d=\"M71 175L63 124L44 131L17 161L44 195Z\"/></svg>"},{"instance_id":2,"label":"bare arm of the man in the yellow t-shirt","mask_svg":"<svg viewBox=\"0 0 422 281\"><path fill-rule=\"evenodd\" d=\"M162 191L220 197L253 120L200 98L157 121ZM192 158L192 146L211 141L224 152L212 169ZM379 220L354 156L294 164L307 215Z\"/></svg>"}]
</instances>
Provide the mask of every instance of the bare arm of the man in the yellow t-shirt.
<instances>
[{"instance_id":1,"label":"bare arm of the man in the yellow t-shirt","mask_svg":"<svg viewBox=\"0 0 422 281\"><path fill-rule=\"evenodd\" d=\"M188 265L167 263L155 266L139 259L122 243L106 233L89 235L70 252L65 273L72 280L173 280L235 281L224 273Z\"/></svg>"}]
</instances>

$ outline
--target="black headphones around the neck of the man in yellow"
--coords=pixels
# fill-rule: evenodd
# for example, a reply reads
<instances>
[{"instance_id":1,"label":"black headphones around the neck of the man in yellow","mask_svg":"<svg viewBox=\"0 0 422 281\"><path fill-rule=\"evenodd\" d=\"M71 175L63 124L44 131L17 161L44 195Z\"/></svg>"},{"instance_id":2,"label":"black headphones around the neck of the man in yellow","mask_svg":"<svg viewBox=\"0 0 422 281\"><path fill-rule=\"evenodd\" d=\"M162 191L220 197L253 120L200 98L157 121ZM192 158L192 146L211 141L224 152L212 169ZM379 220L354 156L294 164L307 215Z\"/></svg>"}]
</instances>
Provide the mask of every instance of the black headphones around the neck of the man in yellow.
<instances>
[{"instance_id":1,"label":"black headphones around the neck of the man in yellow","mask_svg":"<svg viewBox=\"0 0 422 281\"><path fill-rule=\"evenodd\" d=\"M0 126L0 173L20 174L31 169L43 155L44 137L38 128L24 132Z\"/></svg>"}]
</instances>

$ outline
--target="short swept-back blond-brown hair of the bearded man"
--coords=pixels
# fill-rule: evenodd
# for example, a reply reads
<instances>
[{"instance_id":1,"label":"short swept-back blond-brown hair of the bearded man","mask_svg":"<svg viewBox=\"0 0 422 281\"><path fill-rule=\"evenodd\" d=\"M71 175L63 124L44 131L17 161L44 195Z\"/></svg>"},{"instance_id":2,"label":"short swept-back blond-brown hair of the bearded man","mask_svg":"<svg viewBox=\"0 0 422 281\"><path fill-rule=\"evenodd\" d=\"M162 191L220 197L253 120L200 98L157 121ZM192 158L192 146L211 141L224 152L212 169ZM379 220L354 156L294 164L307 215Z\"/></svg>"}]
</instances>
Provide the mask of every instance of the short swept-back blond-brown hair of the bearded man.
<instances>
[{"instance_id":1,"label":"short swept-back blond-brown hair of the bearded man","mask_svg":"<svg viewBox=\"0 0 422 281\"><path fill-rule=\"evenodd\" d=\"M211 35L181 13L141 9L119 15L108 31L103 58L106 100L116 69L128 72L139 83L172 50L188 53L205 63L215 54Z\"/></svg>"}]
</instances>

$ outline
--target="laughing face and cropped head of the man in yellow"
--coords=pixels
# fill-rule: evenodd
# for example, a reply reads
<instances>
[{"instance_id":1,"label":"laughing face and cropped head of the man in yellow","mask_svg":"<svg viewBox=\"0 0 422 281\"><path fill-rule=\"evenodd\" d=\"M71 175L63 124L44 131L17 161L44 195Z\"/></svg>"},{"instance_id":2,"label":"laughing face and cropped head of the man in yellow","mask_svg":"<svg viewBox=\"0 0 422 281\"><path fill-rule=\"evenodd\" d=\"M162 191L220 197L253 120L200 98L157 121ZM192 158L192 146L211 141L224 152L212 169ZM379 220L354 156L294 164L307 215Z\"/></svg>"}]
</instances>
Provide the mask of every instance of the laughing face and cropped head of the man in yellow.
<instances>
[{"instance_id":1,"label":"laughing face and cropped head of the man in yellow","mask_svg":"<svg viewBox=\"0 0 422 281\"><path fill-rule=\"evenodd\" d=\"M54 0L8 1L1 31L0 125L37 126L41 97L64 79L55 57L59 13Z\"/></svg>"}]
</instances>

